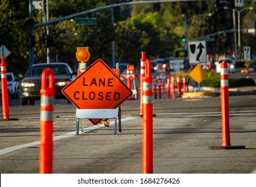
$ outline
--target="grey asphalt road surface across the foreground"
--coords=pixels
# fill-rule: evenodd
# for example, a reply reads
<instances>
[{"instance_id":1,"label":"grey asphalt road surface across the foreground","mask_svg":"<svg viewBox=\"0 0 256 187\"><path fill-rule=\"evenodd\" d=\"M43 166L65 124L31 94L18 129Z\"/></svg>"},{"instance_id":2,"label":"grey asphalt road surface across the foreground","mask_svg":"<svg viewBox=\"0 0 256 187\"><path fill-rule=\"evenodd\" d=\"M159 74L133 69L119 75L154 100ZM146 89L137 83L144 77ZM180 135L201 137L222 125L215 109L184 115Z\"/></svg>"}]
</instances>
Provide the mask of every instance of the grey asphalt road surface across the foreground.
<instances>
[{"instance_id":1,"label":"grey asphalt road surface across the foreground","mask_svg":"<svg viewBox=\"0 0 256 187\"><path fill-rule=\"evenodd\" d=\"M176 98L154 100L153 172L248 174L256 169L256 96L229 97L231 145L245 149L209 150L221 146L221 99ZM10 106L10 120L0 121L0 172L39 172L39 105ZM140 101L122 104L122 132L114 123L92 125L80 120L76 136L76 108L57 102L54 110L53 173L142 173ZM2 108L0 109L0 119Z\"/></svg>"}]
</instances>

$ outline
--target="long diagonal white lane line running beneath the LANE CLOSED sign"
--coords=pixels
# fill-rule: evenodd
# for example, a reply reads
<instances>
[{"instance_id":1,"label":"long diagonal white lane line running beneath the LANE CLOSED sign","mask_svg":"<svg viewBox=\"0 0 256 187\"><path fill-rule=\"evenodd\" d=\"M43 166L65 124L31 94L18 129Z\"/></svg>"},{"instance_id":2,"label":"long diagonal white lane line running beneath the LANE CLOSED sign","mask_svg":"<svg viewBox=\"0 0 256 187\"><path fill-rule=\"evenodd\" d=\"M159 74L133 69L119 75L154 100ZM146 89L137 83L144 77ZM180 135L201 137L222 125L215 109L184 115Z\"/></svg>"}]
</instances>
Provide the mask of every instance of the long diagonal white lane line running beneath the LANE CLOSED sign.
<instances>
[{"instance_id":1,"label":"long diagonal white lane line running beneath the LANE CLOSED sign","mask_svg":"<svg viewBox=\"0 0 256 187\"><path fill-rule=\"evenodd\" d=\"M127 122L127 121L130 121L130 120L135 120L137 118L139 118L139 117L128 117L128 118L123 118L121 121L122 122ZM114 123L115 123L114 121L110 122L110 126L114 125ZM103 124L100 124L98 126L92 126L90 128L84 128L84 132L90 132L92 130L96 130L96 129L102 128L102 127L104 127ZM80 130L80 133L81 132L82 132L82 130ZM60 139L63 139L63 138L68 138L68 137L71 137L71 136L76 136L76 131L70 132L68 134L64 134L64 135L61 135L61 136L55 136L55 137L53 137L53 141L60 140ZM31 147L31 146L37 146L39 144L40 144L40 141L37 141L37 142L31 142L31 143L23 144L23 145L19 145L19 146L13 146L13 147L10 147L10 148L5 148L3 150L0 150L0 156L4 155L4 154L8 154L10 152L21 150L23 148L28 148L28 147Z\"/></svg>"}]
</instances>

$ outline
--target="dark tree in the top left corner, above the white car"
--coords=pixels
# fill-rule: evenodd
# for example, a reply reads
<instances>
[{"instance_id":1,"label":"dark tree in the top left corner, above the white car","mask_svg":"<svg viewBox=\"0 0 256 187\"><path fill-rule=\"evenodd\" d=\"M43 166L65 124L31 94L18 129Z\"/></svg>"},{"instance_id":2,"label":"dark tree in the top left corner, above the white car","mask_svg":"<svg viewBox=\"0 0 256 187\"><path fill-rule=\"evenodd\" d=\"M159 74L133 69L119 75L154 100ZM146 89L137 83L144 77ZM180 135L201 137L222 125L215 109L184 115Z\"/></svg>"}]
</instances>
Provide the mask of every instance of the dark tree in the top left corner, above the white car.
<instances>
[{"instance_id":1,"label":"dark tree in the top left corner, above the white car","mask_svg":"<svg viewBox=\"0 0 256 187\"><path fill-rule=\"evenodd\" d=\"M27 68L29 57L29 30L33 21L28 18L28 1L2 0L0 4L0 45L11 55L6 59L7 71L17 74Z\"/></svg>"}]
</instances>

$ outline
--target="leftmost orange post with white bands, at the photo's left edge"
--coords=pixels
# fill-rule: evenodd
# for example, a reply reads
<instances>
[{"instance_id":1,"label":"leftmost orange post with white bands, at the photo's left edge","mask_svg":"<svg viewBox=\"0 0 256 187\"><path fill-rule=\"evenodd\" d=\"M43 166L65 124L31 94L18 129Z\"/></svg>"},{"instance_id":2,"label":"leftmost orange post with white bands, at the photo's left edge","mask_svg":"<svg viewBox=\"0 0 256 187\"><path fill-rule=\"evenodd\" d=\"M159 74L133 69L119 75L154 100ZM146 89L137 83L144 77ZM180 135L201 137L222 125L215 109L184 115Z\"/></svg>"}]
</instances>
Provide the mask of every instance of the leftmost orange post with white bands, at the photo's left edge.
<instances>
[{"instance_id":1,"label":"leftmost orange post with white bands, at the photo's left edge","mask_svg":"<svg viewBox=\"0 0 256 187\"><path fill-rule=\"evenodd\" d=\"M8 100L8 87L7 87L7 71L5 57L1 57L1 94L3 105L3 119L9 119L9 100Z\"/></svg>"}]
</instances>

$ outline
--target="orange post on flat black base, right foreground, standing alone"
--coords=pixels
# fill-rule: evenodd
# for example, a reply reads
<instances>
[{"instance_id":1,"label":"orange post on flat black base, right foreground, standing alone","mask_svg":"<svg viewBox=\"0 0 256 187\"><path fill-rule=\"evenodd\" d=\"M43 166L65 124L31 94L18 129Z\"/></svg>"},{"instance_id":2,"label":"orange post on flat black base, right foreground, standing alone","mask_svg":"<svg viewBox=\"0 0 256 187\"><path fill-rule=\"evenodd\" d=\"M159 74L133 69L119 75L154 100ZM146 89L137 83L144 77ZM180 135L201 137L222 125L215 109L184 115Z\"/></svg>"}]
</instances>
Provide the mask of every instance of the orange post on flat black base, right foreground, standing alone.
<instances>
[{"instance_id":1,"label":"orange post on flat black base, right foreground, standing alone","mask_svg":"<svg viewBox=\"0 0 256 187\"><path fill-rule=\"evenodd\" d=\"M245 146L231 146L229 128L229 66L221 63L221 113L222 113L222 146L210 146L209 149L244 149Z\"/></svg>"}]
</instances>

